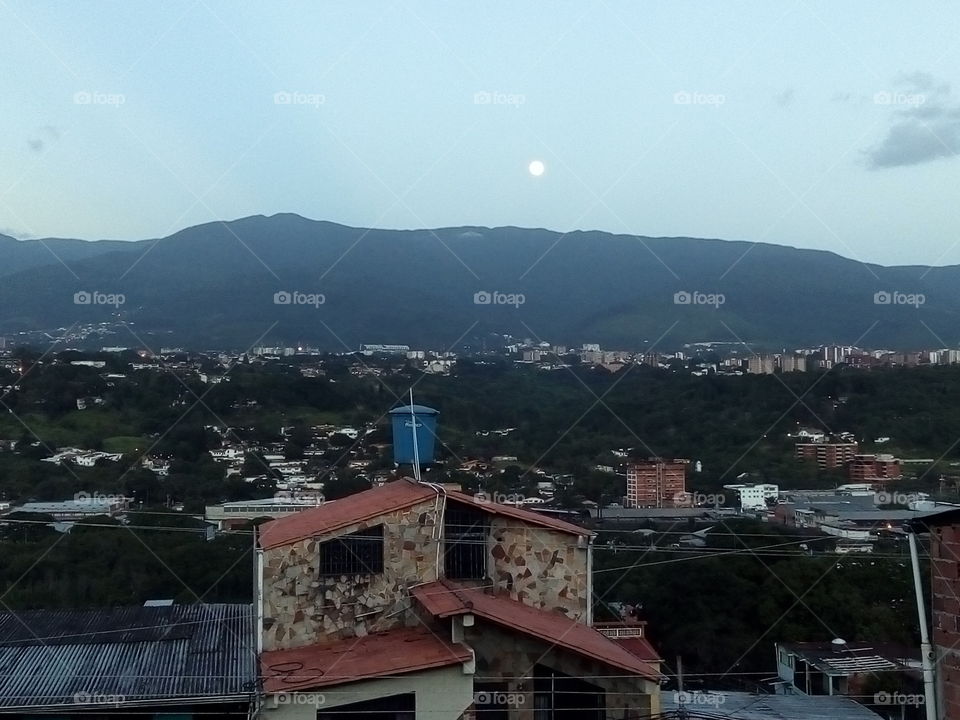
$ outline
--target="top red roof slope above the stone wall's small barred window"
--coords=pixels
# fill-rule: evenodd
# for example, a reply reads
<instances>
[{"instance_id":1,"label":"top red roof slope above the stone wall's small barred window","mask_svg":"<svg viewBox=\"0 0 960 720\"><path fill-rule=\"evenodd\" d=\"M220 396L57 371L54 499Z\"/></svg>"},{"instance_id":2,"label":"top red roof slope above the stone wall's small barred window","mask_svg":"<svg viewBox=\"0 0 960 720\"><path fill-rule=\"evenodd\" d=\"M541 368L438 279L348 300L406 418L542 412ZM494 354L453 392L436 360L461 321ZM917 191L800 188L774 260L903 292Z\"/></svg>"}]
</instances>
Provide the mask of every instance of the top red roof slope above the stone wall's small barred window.
<instances>
[{"instance_id":1,"label":"top red roof slope above the stone wall's small barred window","mask_svg":"<svg viewBox=\"0 0 960 720\"><path fill-rule=\"evenodd\" d=\"M395 480L382 487L325 503L260 526L260 547L289 545L316 535L433 499L436 491L411 480Z\"/></svg>"}]
</instances>

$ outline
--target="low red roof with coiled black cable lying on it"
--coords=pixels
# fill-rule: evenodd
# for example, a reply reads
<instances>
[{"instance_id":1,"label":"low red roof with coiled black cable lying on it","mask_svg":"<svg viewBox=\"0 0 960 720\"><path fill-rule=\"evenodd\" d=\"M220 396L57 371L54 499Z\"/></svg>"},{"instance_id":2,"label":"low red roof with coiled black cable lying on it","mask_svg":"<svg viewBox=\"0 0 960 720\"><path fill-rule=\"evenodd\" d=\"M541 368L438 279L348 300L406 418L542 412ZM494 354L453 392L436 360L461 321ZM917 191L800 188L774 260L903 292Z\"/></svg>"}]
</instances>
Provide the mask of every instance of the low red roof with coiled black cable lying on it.
<instances>
[{"instance_id":1,"label":"low red roof with coiled black cable lying on it","mask_svg":"<svg viewBox=\"0 0 960 720\"><path fill-rule=\"evenodd\" d=\"M446 667L471 660L469 649L426 628L401 628L332 645L269 650L260 656L263 689L280 693Z\"/></svg>"}]
</instances>

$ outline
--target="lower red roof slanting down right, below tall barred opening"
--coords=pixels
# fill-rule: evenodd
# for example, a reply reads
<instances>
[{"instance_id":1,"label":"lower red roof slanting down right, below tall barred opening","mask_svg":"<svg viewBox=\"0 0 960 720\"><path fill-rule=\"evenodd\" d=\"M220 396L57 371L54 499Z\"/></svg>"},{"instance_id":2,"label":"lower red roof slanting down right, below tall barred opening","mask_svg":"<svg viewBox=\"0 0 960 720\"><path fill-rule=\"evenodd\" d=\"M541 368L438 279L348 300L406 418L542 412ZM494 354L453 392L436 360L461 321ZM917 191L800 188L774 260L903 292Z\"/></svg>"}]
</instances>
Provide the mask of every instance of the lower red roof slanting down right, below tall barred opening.
<instances>
[{"instance_id":1,"label":"lower red roof slanting down right, below tall barred opening","mask_svg":"<svg viewBox=\"0 0 960 720\"><path fill-rule=\"evenodd\" d=\"M413 596L434 617L472 613L503 627L544 640L551 645L585 655L607 665L651 680L662 676L647 660L618 645L583 623L551 610L538 610L504 596L468 588L449 580L420 585Z\"/></svg>"}]
</instances>

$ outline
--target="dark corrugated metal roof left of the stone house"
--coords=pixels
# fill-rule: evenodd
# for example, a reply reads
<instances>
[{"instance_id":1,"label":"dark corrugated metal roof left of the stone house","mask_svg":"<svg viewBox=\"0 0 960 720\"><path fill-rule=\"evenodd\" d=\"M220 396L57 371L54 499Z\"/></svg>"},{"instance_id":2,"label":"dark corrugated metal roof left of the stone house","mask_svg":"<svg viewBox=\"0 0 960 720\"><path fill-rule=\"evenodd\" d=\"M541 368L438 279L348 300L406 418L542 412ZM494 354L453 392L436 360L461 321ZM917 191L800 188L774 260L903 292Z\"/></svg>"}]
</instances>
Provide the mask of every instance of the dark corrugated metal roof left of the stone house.
<instances>
[{"instance_id":1,"label":"dark corrugated metal roof left of the stone house","mask_svg":"<svg viewBox=\"0 0 960 720\"><path fill-rule=\"evenodd\" d=\"M251 605L0 613L0 708L256 692Z\"/></svg>"}]
</instances>

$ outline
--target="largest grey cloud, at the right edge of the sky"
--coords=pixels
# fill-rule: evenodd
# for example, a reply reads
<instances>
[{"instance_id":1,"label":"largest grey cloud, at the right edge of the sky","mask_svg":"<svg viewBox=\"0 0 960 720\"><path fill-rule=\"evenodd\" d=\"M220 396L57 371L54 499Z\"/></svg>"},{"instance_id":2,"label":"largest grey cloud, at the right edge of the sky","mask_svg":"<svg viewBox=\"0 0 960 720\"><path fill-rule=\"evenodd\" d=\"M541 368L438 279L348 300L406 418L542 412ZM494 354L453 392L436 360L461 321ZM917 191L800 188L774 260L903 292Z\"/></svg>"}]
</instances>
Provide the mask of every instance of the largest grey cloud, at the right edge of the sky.
<instances>
[{"instance_id":1,"label":"largest grey cloud, at the right edge of the sky","mask_svg":"<svg viewBox=\"0 0 960 720\"><path fill-rule=\"evenodd\" d=\"M952 103L950 85L929 73L901 76L897 87L874 103L893 108L886 136L866 152L867 167L907 167L960 155L960 105Z\"/></svg>"}]
</instances>

